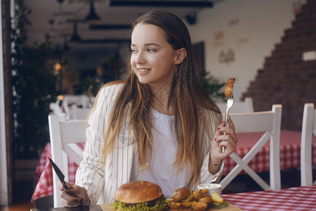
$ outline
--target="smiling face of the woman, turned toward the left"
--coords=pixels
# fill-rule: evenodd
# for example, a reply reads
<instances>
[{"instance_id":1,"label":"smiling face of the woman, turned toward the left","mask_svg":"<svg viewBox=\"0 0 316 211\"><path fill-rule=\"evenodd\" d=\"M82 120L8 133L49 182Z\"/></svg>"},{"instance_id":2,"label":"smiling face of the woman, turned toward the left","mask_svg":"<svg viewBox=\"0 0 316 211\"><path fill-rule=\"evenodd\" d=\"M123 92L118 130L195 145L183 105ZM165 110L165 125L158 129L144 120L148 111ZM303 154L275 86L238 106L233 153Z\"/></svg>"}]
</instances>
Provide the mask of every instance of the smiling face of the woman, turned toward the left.
<instances>
[{"instance_id":1,"label":"smiling face of the woman, turned toward the left","mask_svg":"<svg viewBox=\"0 0 316 211\"><path fill-rule=\"evenodd\" d=\"M159 89L171 82L176 68L176 50L164 31L150 24L138 24L131 35L131 66L140 83Z\"/></svg>"}]
</instances>

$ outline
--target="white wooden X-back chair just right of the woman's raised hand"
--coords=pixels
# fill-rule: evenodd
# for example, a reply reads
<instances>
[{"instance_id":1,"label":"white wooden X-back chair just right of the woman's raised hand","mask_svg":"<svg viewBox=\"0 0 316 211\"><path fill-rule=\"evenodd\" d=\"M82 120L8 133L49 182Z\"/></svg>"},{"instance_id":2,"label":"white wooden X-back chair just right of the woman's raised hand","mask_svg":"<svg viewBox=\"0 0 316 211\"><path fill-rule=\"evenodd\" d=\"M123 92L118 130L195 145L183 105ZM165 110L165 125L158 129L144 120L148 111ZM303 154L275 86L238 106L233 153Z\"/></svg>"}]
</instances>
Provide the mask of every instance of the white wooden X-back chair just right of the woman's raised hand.
<instances>
[{"instance_id":1,"label":"white wooden X-back chair just right of the woman's raised hand","mask_svg":"<svg viewBox=\"0 0 316 211\"><path fill-rule=\"evenodd\" d=\"M235 105L234 105L235 106ZM240 158L236 153L230 154L230 158L237 165L221 181L223 188L228 186L239 172L244 170L256 181L264 190L275 190L281 188L279 148L280 148L280 130L281 130L282 106L273 105L272 110L254 113L230 113L236 133L265 132L261 139L254 140L256 144L244 156ZM268 185L248 163L261 150L265 143L270 139L270 185Z\"/></svg>"}]
</instances>

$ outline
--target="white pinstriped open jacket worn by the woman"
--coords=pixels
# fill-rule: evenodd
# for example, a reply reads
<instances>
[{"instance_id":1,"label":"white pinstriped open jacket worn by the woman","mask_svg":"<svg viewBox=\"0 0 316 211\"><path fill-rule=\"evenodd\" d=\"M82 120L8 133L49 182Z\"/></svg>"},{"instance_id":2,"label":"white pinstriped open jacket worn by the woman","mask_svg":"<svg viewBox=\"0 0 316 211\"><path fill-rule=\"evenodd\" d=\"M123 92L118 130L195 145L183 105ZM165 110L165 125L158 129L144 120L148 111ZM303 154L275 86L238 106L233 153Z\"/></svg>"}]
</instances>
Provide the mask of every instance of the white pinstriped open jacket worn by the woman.
<instances>
[{"instance_id":1,"label":"white pinstriped open jacket worn by the woman","mask_svg":"<svg viewBox=\"0 0 316 211\"><path fill-rule=\"evenodd\" d=\"M101 89L96 102L96 110L88 119L84 160L82 160L77 170L76 184L86 188L91 204L112 203L117 188L121 184L130 181L133 152L134 148L137 147L134 143L131 144L133 134L128 127L131 103L126 106L126 119L119 134L117 134L112 153L107 156L105 163L102 160L108 120L121 87L122 84L114 84ZM217 127L215 123L216 115L216 113L209 110L205 110L204 113L199 115L199 124L202 125L200 136L202 144L200 146L202 158L204 158L199 184L216 181L223 170L222 165L220 171L215 175L209 172L211 140ZM204 127L204 122L206 122L207 127ZM154 148L152 151L154 151ZM196 189L196 186L197 184L195 184L194 189Z\"/></svg>"}]
</instances>

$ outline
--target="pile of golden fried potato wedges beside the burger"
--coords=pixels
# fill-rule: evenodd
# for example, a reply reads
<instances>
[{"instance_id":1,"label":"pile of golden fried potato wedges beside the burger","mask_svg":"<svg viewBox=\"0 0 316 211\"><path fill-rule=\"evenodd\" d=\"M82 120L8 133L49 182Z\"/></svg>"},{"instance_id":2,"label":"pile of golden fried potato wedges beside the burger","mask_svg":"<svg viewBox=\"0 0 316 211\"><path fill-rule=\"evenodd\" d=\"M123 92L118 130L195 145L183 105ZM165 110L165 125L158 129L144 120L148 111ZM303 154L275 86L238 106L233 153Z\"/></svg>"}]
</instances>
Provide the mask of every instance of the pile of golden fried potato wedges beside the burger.
<instances>
[{"instance_id":1,"label":"pile of golden fried potato wedges beside the burger","mask_svg":"<svg viewBox=\"0 0 316 211\"><path fill-rule=\"evenodd\" d=\"M167 205L171 209L192 207L192 210L202 211L224 203L223 198L216 192L209 196L208 189L190 191L188 188L178 188L173 192L172 199L168 200Z\"/></svg>"}]
</instances>

